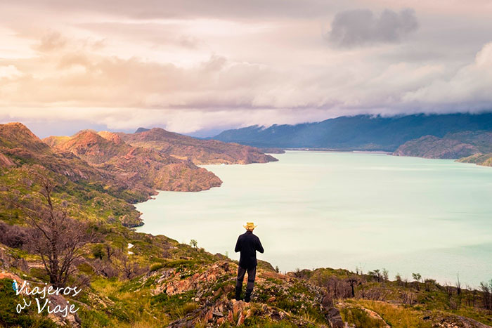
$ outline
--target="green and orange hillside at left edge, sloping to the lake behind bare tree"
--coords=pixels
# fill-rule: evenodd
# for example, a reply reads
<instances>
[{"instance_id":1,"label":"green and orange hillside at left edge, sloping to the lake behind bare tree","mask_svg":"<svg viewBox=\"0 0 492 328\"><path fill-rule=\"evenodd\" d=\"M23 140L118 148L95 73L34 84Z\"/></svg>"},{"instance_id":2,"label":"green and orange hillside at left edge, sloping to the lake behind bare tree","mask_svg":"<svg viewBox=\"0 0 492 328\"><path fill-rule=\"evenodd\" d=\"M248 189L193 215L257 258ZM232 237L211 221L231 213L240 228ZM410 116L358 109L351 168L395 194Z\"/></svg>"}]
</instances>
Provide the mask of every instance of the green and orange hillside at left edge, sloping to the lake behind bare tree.
<instances>
[{"instance_id":1,"label":"green and orange hillside at left edge, sloping to the lake behind bare tree","mask_svg":"<svg viewBox=\"0 0 492 328\"><path fill-rule=\"evenodd\" d=\"M53 152L23 124L0 124L0 218L10 223L20 220L11 203L29 197L37 176L56 181L57 195L72 205L70 214L91 221L141 225L140 214L130 203L155 194L148 186L129 185L72 153Z\"/></svg>"}]
</instances>

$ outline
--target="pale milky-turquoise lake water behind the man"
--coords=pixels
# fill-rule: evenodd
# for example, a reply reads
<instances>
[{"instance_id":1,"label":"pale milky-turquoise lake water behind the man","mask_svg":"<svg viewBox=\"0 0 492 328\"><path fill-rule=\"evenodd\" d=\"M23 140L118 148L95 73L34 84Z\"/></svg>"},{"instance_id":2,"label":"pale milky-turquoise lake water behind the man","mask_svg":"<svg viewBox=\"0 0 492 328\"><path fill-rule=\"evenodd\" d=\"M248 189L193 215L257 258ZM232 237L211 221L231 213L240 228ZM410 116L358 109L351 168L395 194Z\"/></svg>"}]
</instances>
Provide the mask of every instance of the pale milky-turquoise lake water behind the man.
<instances>
[{"instance_id":1,"label":"pale milky-turquoise lake water behind the man","mask_svg":"<svg viewBox=\"0 0 492 328\"><path fill-rule=\"evenodd\" d=\"M205 166L224 181L202 192L160 192L137 205L140 232L238 259L254 221L281 271L387 268L477 286L492 279L492 168L446 159L286 152L279 162Z\"/></svg>"}]
</instances>

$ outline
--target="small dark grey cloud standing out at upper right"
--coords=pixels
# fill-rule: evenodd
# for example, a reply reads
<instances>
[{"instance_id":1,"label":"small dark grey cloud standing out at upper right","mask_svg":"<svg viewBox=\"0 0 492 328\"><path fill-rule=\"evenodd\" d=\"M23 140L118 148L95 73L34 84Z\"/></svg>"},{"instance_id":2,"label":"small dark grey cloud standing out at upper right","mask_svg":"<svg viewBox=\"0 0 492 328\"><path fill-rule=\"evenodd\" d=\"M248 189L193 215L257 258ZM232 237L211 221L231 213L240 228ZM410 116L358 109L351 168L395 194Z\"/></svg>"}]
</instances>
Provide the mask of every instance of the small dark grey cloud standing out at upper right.
<instances>
[{"instance_id":1,"label":"small dark grey cloud standing out at upper right","mask_svg":"<svg viewBox=\"0 0 492 328\"><path fill-rule=\"evenodd\" d=\"M342 11L335 15L326 38L344 48L377 43L396 43L418 28L413 9L399 13L383 11L379 16L368 9Z\"/></svg>"}]
</instances>

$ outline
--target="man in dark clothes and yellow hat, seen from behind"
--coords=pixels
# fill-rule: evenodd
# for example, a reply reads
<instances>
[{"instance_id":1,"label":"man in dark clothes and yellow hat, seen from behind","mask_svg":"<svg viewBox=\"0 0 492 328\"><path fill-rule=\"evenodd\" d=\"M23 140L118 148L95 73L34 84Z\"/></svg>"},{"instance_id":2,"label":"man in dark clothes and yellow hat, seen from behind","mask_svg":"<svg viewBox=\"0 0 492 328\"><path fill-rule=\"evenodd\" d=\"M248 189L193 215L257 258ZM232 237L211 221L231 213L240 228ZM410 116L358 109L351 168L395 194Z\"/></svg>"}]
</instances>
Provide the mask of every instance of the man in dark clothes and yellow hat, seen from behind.
<instances>
[{"instance_id":1,"label":"man in dark clothes and yellow hat, seen from behind","mask_svg":"<svg viewBox=\"0 0 492 328\"><path fill-rule=\"evenodd\" d=\"M247 222L243 227L246 228L246 232L238 237L238 242L236 242L234 249L236 253L238 251L241 252L239 258L238 280L235 284L235 299L238 301L240 300L242 280L244 280L247 271L245 302L249 303L254 287L254 278L257 275L257 251L263 253L264 249L263 246L261 246L259 238L256 235L253 235L253 230L254 228L257 228L257 226L252 222Z\"/></svg>"}]
</instances>

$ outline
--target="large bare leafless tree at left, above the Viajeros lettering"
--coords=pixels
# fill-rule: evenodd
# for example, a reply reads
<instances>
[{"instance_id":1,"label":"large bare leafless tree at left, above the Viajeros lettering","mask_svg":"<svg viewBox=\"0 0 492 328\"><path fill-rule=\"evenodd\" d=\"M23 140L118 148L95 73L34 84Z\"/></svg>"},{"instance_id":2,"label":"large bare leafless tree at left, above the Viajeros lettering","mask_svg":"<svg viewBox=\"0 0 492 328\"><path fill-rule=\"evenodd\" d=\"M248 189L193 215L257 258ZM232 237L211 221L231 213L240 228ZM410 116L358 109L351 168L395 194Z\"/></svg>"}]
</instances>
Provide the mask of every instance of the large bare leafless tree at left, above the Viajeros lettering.
<instances>
[{"instance_id":1,"label":"large bare leafless tree at left, above the Viajeros lettering","mask_svg":"<svg viewBox=\"0 0 492 328\"><path fill-rule=\"evenodd\" d=\"M68 217L65 209L56 209L52 198L54 183L44 177L38 180L40 199L27 204L16 202L15 206L23 211L32 227L32 249L41 256L51 284L64 287L75 270L74 261L81 256L80 247L92 237L87 233L88 225Z\"/></svg>"}]
</instances>

